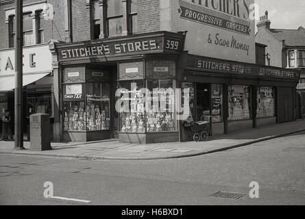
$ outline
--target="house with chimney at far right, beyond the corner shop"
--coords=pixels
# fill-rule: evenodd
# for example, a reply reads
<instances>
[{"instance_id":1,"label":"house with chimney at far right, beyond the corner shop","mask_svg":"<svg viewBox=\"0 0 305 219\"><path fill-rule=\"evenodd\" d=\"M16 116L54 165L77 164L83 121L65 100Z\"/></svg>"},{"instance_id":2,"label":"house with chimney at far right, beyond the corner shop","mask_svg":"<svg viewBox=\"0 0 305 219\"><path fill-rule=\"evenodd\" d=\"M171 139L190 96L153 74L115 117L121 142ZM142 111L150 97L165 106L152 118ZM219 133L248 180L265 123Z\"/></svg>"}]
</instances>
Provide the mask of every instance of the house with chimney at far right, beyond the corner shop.
<instances>
[{"instance_id":1,"label":"house with chimney at far right, beyond the corner shop","mask_svg":"<svg viewBox=\"0 0 305 219\"><path fill-rule=\"evenodd\" d=\"M305 28L272 29L268 12L257 24L256 42L266 45L266 64L280 68L300 69L297 85L297 118L305 115Z\"/></svg>"}]
</instances>

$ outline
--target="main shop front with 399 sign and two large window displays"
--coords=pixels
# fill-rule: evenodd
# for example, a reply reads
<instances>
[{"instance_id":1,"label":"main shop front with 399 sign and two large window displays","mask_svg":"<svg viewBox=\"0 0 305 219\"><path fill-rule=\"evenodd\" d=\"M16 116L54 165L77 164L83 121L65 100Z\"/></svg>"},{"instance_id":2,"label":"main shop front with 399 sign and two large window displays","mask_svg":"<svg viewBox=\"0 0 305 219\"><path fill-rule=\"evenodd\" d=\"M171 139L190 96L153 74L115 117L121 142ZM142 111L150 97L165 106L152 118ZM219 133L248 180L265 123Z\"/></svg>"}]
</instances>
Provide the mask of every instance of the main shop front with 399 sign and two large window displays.
<instances>
[{"instance_id":1,"label":"main shop front with 399 sign and two large window displays","mask_svg":"<svg viewBox=\"0 0 305 219\"><path fill-rule=\"evenodd\" d=\"M56 44L62 140L179 141L175 109L146 103L159 106L160 90L174 95L184 37L161 31Z\"/></svg>"}]
</instances>

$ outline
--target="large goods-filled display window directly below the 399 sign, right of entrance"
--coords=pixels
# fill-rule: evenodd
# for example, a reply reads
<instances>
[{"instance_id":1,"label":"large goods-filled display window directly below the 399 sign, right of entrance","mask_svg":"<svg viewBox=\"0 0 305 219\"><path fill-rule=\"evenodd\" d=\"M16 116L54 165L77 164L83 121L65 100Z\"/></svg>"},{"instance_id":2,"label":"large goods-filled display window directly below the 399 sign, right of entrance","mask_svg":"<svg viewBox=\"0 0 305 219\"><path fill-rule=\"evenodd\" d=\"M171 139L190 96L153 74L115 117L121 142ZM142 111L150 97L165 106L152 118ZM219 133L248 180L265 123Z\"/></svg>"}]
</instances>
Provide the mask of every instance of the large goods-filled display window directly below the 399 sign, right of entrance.
<instances>
[{"instance_id":1,"label":"large goods-filled display window directly below the 399 sign, right of entrance","mask_svg":"<svg viewBox=\"0 0 305 219\"><path fill-rule=\"evenodd\" d=\"M132 83L136 83L136 87L132 87ZM120 114L121 132L178 130L175 119L175 81L173 79L120 81L119 88L121 104L125 107Z\"/></svg>"}]
</instances>

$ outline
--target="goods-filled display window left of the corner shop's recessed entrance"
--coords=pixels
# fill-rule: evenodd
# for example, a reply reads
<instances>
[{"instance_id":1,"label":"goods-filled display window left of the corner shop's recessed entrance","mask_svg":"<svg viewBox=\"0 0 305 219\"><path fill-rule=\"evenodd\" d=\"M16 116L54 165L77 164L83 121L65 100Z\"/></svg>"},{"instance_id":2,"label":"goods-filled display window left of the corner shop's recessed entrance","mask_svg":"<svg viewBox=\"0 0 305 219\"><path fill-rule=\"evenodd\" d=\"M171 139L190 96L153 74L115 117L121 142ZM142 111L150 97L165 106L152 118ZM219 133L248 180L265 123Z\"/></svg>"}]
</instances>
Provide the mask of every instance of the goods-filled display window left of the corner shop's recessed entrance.
<instances>
[{"instance_id":1,"label":"goods-filled display window left of the corner shop's recessed entrance","mask_svg":"<svg viewBox=\"0 0 305 219\"><path fill-rule=\"evenodd\" d=\"M64 131L109 129L110 83L65 84Z\"/></svg>"}]
</instances>

